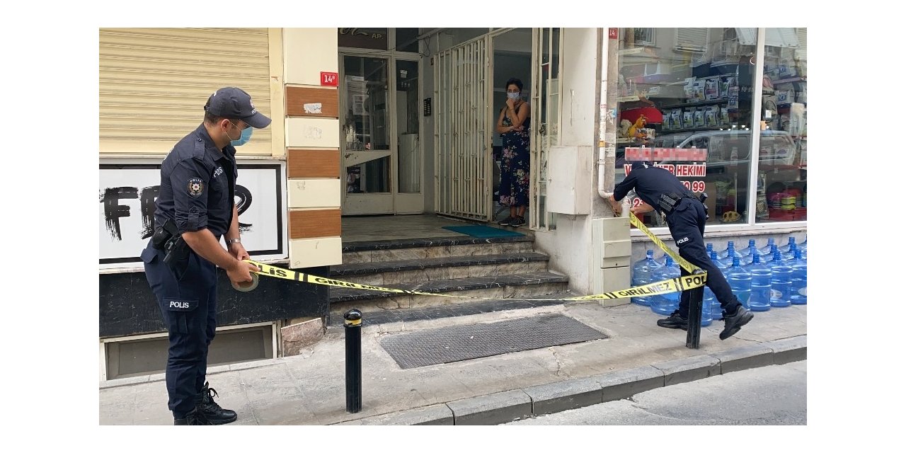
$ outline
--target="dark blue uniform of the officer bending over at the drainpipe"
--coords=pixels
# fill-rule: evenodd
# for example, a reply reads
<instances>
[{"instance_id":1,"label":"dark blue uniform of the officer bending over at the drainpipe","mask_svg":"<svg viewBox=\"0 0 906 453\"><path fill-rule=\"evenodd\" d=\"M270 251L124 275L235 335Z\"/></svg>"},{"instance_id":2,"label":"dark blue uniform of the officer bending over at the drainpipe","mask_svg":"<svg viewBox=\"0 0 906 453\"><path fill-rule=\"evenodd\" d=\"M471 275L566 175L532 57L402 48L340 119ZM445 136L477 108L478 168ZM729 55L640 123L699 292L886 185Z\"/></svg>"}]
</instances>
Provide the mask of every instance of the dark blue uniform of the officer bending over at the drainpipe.
<instances>
[{"instance_id":1,"label":"dark blue uniform of the officer bending over at the drainpipe","mask_svg":"<svg viewBox=\"0 0 906 453\"><path fill-rule=\"evenodd\" d=\"M666 213L670 236L673 236L673 240L679 247L679 255L689 263L708 272L706 284L720 302L720 308L725 315L736 313L737 307L741 304L730 289L727 279L711 262L705 247L707 217L705 206L699 201L699 198L695 198L692 192L683 186L682 182L670 171L640 162L633 163L629 175L613 188L613 198L619 201L633 188L642 201L655 209L663 210L659 203L661 196L673 194L673 197L679 198L672 210ZM681 275L689 275L689 271L681 266L680 269ZM679 315L686 318L687 313L689 313L689 291L683 291L679 298ZM667 327L667 325L664 326ZM724 334L722 333L721 336Z\"/></svg>"}]
</instances>

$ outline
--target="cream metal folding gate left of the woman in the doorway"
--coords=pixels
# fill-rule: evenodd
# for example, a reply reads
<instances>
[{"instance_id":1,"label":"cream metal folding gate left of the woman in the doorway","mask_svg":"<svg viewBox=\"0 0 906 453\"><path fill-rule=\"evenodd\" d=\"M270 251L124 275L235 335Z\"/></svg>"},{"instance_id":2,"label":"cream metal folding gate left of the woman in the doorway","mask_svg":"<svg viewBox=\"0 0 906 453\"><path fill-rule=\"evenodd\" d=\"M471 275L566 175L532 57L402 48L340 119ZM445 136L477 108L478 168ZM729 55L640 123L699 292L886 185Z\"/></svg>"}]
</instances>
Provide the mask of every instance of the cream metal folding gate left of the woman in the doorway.
<instances>
[{"instance_id":1,"label":"cream metal folding gate left of the woman in the doorway","mask_svg":"<svg viewBox=\"0 0 906 453\"><path fill-rule=\"evenodd\" d=\"M439 214L485 221L493 215L490 47L486 35L435 56L434 206Z\"/></svg>"}]
</instances>

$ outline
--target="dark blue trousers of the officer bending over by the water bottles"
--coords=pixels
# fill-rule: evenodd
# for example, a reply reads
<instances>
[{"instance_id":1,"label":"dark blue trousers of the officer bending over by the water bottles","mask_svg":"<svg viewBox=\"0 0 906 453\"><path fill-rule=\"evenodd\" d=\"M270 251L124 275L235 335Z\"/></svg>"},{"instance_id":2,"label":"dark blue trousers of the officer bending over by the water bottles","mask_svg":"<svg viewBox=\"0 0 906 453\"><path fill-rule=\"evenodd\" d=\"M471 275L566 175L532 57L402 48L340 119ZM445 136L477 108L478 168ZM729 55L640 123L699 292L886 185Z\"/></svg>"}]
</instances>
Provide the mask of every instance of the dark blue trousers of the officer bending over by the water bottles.
<instances>
[{"instance_id":1,"label":"dark blue trousers of the officer bending over by the water bottles","mask_svg":"<svg viewBox=\"0 0 906 453\"><path fill-rule=\"evenodd\" d=\"M667 215L667 226L670 227L670 236L679 247L679 256L686 261L699 266L708 272L705 284L714 293L724 313L736 313L740 305L737 296L733 294L727 279L720 272L717 265L711 262L708 249L705 247L705 206L694 198L682 198ZM680 266L680 275L689 275L689 271ZM679 296L679 314L683 317L689 315L689 291L683 291ZM714 316L716 317L716 316Z\"/></svg>"}]
</instances>

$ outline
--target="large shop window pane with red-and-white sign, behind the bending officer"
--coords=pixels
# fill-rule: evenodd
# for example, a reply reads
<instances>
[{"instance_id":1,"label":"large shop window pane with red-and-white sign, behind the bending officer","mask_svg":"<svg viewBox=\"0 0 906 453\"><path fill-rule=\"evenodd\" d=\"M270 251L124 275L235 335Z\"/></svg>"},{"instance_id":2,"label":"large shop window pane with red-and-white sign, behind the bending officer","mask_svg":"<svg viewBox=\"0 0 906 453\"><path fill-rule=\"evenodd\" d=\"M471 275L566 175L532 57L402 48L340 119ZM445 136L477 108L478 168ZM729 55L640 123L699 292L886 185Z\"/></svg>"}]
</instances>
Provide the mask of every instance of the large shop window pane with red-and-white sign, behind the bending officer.
<instances>
[{"instance_id":1,"label":"large shop window pane with red-and-white sign, behind the bending officer","mask_svg":"<svg viewBox=\"0 0 906 453\"><path fill-rule=\"evenodd\" d=\"M618 52L616 180L624 178L632 160L645 156L673 171L696 194L708 192L709 223L745 223L754 187L752 131L758 130L752 125L756 46L747 44L748 30L624 30ZM656 34L660 42L651 47ZM666 226L655 213L642 220Z\"/></svg>"}]
</instances>

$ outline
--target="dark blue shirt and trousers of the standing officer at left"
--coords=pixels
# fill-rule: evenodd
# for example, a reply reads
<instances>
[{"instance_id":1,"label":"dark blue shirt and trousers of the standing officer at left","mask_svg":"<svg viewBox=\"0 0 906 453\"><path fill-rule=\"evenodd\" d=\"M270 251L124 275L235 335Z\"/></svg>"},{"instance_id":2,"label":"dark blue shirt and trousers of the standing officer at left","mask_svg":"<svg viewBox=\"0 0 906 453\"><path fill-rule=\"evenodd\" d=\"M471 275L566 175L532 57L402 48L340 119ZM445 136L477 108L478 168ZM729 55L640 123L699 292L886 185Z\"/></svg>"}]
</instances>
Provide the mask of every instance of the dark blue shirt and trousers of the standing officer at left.
<instances>
[{"instance_id":1,"label":"dark blue shirt and trousers of the standing officer at left","mask_svg":"<svg viewBox=\"0 0 906 453\"><path fill-rule=\"evenodd\" d=\"M233 219L236 171L236 148L217 149L202 123L161 164L155 226L172 220L179 235L207 228L219 241ZM207 347L217 327L216 266L188 246L166 264L166 251L152 242L141 259L169 332L169 409L184 419L206 385Z\"/></svg>"}]
</instances>

